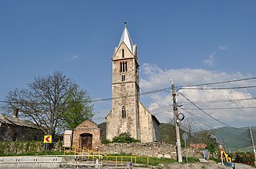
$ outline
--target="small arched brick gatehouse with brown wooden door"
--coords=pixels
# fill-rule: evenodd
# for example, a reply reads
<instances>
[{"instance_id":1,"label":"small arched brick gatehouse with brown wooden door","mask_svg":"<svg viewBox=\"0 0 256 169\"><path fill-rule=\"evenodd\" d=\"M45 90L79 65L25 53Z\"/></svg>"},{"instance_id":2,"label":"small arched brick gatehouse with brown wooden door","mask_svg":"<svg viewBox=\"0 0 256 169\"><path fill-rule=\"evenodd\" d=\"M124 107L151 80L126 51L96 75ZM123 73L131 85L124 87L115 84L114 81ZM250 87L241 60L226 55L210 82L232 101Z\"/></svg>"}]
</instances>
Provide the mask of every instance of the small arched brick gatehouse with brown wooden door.
<instances>
[{"instance_id":1,"label":"small arched brick gatehouse with brown wooden door","mask_svg":"<svg viewBox=\"0 0 256 169\"><path fill-rule=\"evenodd\" d=\"M86 120L74 129L72 146L80 150L96 150L100 144L100 129L95 122Z\"/></svg>"}]
</instances>

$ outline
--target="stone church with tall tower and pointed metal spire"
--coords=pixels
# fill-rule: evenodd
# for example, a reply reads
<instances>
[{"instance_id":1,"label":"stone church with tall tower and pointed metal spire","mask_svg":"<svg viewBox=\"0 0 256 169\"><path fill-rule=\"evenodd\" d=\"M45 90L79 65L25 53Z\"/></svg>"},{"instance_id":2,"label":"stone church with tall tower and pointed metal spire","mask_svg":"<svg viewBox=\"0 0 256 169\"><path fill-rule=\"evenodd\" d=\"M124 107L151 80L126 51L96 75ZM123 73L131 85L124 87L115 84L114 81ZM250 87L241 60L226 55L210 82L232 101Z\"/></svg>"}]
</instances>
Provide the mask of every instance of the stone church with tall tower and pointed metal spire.
<instances>
[{"instance_id":1,"label":"stone church with tall tower and pointed metal spire","mask_svg":"<svg viewBox=\"0 0 256 169\"><path fill-rule=\"evenodd\" d=\"M127 132L142 143L158 141L157 118L139 100L139 58L126 23L112 57L112 108L106 116L106 139Z\"/></svg>"}]
</instances>

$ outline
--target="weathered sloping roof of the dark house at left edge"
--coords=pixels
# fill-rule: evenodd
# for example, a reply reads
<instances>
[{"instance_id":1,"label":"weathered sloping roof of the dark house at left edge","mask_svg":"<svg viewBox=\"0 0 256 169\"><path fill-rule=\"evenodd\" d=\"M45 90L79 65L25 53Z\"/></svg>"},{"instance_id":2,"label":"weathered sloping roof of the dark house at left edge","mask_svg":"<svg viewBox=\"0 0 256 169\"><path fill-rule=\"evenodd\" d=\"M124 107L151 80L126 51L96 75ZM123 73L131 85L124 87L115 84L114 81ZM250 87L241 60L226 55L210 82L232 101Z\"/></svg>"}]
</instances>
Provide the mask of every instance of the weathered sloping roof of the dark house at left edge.
<instances>
[{"instance_id":1,"label":"weathered sloping roof of the dark house at left edge","mask_svg":"<svg viewBox=\"0 0 256 169\"><path fill-rule=\"evenodd\" d=\"M8 116L5 114L0 114L0 123L6 124L6 125L19 125L23 127L38 129L38 126L31 121L21 120L19 118L14 118L12 116Z\"/></svg>"}]
</instances>

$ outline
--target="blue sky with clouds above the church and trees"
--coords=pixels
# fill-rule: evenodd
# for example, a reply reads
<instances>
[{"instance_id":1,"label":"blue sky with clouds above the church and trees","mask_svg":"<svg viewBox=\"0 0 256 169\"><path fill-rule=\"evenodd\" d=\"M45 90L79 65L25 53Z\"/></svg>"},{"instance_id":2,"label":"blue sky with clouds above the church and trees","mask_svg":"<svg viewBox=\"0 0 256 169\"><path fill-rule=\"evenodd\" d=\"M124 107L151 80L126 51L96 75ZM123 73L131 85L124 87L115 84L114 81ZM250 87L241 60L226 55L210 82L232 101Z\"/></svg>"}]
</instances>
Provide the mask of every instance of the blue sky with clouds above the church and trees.
<instances>
[{"instance_id":1,"label":"blue sky with clouds above the church and trees","mask_svg":"<svg viewBox=\"0 0 256 169\"><path fill-rule=\"evenodd\" d=\"M111 98L111 58L126 21L138 46L141 102L160 122L173 118L172 79L182 122L255 126L255 9L254 0L2 0L0 101L55 71L93 100ZM184 88L204 83L218 84ZM93 104L92 120L106 121L111 100Z\"/></svg>"}]
</instances>

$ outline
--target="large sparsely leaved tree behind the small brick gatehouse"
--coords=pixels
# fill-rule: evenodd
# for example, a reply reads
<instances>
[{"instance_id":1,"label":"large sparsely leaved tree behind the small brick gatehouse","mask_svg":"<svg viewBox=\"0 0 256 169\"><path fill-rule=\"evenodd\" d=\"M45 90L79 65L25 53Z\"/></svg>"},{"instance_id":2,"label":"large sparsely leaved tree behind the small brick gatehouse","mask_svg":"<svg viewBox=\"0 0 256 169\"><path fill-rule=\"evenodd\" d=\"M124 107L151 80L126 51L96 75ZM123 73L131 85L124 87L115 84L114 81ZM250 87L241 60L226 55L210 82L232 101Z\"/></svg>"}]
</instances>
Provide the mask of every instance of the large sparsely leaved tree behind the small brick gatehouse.
<instances>
[{"instance_id":1,"label":"large sparsely leaved tree behind the small brick gatehouse","mask_svg":"<svg viewBox=\"0 0 256 169\"><path fill-rule=\"evenodd\" d=\"M27 89L10 91L5 103L2 108L7 114L18 108L21 117L34 121L52 136L63 131L63 124L71 124L70 118L87 119L93 115L92 100L86 91L59 71L52 76L34 77Z\"/></svg>"}]
</instances>

